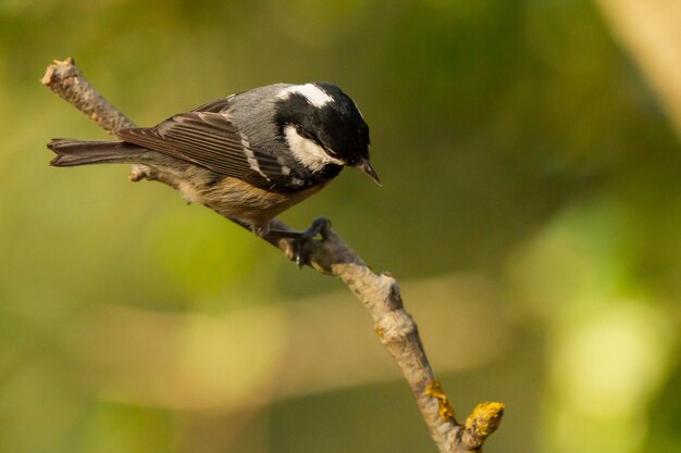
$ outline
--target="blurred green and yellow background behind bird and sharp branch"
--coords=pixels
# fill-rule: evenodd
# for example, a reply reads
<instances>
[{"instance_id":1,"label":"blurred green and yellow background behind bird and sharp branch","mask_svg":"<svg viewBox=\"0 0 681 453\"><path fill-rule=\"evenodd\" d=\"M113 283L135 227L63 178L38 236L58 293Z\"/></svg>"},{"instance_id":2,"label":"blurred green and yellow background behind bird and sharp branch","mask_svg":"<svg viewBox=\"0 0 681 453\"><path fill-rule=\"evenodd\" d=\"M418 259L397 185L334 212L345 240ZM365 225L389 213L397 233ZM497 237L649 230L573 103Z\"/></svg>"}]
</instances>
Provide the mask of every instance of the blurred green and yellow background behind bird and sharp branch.
<instances>
[{"instance_id":1,"label":"blurred green and yellow background behind bird and sharp branch","mask_svg":"<svg viewBox=\"0 0 681 453\"><path fill-rule=\"evenodd\" d=\"M678 2L0 0L0 453L436 451L340 282L127 167L41 87L74 56L139 125L331 80L371 126L285 213L399 278L494 452L681 451ZM671 24L671 25L670 25Z\"/></svg>"}]
</instances>

